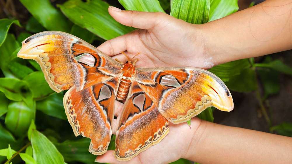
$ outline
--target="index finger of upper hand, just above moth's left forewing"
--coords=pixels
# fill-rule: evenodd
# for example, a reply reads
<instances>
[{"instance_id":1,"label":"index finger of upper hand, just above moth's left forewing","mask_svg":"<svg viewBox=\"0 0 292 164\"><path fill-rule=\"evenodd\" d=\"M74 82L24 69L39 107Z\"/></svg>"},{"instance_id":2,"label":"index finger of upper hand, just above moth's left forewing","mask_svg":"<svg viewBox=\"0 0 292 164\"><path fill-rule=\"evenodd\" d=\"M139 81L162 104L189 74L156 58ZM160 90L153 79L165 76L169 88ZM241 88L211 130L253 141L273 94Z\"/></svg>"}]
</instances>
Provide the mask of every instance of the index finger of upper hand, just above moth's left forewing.
<instances>
[{"instance_id":1,"label":"index finger of upper hand, just above moth's left forewing","mask_svg":"<svg viewBox=\"0 0 292 164\"><path fill-rule=\"evenodd\" d=\"M97 47L98 50L107 54L108 56L113 56L124 52L127 50L126 37L128 34L118 36L111 40L107 40Z\"/></svg>"}]
</instances>

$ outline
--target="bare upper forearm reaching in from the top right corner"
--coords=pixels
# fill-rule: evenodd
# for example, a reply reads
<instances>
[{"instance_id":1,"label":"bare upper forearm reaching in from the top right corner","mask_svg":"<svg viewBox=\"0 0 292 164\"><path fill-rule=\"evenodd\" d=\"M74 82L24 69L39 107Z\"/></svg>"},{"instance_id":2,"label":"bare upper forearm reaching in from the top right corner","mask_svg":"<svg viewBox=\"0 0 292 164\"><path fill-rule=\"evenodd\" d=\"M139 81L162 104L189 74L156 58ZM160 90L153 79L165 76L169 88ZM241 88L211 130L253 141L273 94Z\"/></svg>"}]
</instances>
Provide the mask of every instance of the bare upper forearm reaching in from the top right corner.
<instances>
[{"instance_id":1,"label":"bare upper forearm reaching in from the top right corner","mask_svg":"<svg viewBox=\"0 0 292 164\"><path fill-rule=\"evenodd\" d=\"M267 0L199 25L205 53L221 64L291 49L291 8L292 0Z\"/></svg>"}]
</instances>

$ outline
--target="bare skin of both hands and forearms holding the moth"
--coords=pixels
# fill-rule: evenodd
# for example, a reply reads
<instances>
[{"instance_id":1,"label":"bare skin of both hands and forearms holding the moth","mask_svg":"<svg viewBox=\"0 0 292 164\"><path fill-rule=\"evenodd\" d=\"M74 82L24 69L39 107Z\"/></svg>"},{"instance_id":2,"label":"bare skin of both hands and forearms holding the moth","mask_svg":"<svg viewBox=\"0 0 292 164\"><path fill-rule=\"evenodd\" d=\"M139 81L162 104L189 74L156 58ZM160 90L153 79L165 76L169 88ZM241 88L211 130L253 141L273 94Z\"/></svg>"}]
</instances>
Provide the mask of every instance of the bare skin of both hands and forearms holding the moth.
<instances>
[{"instance_id":1,"label":"bare skin of both hands and forearms holding the moth","mask_svg":"<svg viewBox=\"0 0 292 164\"><path fill-rule=\"evenodd\" d=\"M189 24L164 13L124 11L109 7L109 14L135 31L98 47L122 62L127 51L138 67L192 66L211 68L237 59L289 50L291 0L267 0L206 24ZM113 133L122 105L117 103ZM236 109L235 109L236 110ZM291 163L292 138L223 126L198 118L171 124L166 137L128 163L170 163L186 158L199 163ZM96 161L124 163L113 151Z\"/></svg>"}]
</instances>

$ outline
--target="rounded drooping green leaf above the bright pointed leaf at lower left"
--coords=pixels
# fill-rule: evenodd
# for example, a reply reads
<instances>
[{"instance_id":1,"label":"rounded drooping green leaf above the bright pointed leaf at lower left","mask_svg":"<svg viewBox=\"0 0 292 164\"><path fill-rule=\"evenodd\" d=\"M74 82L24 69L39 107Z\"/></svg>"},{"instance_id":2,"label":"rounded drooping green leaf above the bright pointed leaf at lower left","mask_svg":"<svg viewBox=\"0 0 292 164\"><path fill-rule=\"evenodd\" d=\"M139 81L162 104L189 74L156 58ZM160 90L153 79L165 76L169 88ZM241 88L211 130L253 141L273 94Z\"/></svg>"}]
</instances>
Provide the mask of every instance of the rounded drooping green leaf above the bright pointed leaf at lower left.
<instances>
[{"instance_id":1,"label":"rounded drooping green leaf above the bright pointed leaf at lower left","mask_svg":"<svg viewBox=\"0 0 292 164\"><path fill-rule=\"evenodd\" d=\"M28 107L23 101L12 102L8 105L8 111L5 117L6 127L15 135L26 135L31 120L35 117L34 107Z\"/></svg>"}]
</instances>

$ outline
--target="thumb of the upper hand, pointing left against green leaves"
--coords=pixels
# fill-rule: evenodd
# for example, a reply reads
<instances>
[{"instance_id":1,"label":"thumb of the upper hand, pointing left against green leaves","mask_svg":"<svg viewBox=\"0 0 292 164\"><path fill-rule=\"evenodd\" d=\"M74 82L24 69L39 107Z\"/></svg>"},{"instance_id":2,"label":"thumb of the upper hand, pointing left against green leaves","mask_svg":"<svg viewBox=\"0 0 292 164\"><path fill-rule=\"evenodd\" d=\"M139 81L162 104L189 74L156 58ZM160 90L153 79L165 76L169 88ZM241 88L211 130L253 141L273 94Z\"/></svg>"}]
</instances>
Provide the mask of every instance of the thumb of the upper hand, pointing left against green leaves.
<instances>
[{"instance_id":1,"label":"thumb of the upper hand, pointing left against green leaves","mask_svg":"<svg viewBox=\"0 0 292 164\"><path fill-rule=\"evenodd\" d=\"M126 11L113 6L109 6L108 11L117 22L138 29L152 29L158 26L161 20L171 17L161 12Z\"/></svg>"}]
</instances>

